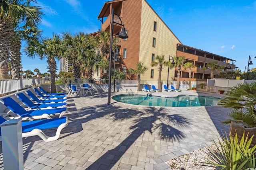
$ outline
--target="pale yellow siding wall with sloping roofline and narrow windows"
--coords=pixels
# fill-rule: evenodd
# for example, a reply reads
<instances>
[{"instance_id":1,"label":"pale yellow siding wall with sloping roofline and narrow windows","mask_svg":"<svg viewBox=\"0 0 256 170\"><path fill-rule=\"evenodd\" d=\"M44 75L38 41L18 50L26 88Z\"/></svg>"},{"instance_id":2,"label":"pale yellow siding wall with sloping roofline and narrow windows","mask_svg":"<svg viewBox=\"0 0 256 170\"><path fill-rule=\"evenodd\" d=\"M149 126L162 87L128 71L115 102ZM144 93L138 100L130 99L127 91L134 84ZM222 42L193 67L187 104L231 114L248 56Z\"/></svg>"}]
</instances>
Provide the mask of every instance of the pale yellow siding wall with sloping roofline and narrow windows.
<instances>
[{"instance_id":1,"label":"pale yellow siding wall with sloping roofline and narrow windows","mask_svg":"<svg viewBox=\"0 0 256 170\"><path fill-rule=\"evenodd\" d=\"M157 22L156 31L153 31L154 21ZM142 80L150 79L150 70L154 69L154 78L158 80L158 67L150 66L152 53L156 55L164 55L165 60L169 60L169 55L176 56L176 43L180 41L159 18L149 4L142 0L141 25L140 25L140 54L139 61L148 67L148 71L141 76ZM156 47L152 47L153 37L156 38ZM172 59L172 58L171 58ZM167 80L168 67L162 69L161 80ZM174 77L174 72L169 71L169 80Z\"/></svg>"}]
</instances>

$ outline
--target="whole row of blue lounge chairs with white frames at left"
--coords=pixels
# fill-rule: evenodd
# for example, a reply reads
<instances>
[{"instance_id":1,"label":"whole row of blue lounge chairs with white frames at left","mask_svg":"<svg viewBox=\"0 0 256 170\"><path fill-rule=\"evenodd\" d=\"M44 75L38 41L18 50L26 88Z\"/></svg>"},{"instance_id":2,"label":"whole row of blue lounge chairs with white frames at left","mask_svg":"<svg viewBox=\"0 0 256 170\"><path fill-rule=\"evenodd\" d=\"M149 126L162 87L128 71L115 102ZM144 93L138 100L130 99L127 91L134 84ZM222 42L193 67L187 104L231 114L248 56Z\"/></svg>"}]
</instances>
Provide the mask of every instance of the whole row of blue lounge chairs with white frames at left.
<instances>
[{"instance_id":1,"label":"whole row of blue lounge chairs with white frames at left","mask_svg":"<svg viewBox=\"0 0 256 170\"><path fill-rule=\"evenodd\" d=\"M47 93L41 87L34 88L34 92L27 90L26 94L18 93L15 96L20 102L11 97L0 99L0 103L9 109L5 117L0 116L0 124L8 119L21 119L22 137L38 135L46 142L57 140L60 131L68 125L68 118L63 117L67 112L67 96L64 93ZM15 116L10 116L11 114ZM48 137L42 130L51 128L57 128L56 134Z\"/></svg>"}]
</instances>

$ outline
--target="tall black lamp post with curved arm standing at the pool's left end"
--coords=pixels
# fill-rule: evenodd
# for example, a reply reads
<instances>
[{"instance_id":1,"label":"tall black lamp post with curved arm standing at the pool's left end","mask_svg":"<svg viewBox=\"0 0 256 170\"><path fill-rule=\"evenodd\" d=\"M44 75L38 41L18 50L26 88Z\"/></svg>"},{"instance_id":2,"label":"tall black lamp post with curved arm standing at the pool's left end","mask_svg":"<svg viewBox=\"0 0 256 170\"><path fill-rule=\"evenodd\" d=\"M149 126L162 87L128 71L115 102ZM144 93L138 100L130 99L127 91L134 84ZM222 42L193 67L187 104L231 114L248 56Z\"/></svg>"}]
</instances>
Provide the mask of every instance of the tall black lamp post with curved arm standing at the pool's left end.
<instances>
[{"instance_id":1,"label":"tall black lamp post with curved arm standing at the pool's left end","mask_svg":"<svg viewBox=\"0 0 256 170\"><path fill-rule=\"evenodd\" d=\"M115 22L114 21L114 15L118 16L118 18L120 19L121 23ZM114 12L114 8L112 8L112 16L111 16L111 37L110 37L110 59L109 59L109 74L108 74L108 103L107 104L111 104L110 103L110 95L111 95L111 63L112 63L112 46L113 46L113 27L114 27L114 23L117 25L121 25L122 27L122 31L119 33L118 37L122 38L122 39L126 39L128 38L128 35L125 31L124 28L124 24L122 24L122 20L120 18L120 16L118 14L116 14Z\"/></svg>"}]
</instances>

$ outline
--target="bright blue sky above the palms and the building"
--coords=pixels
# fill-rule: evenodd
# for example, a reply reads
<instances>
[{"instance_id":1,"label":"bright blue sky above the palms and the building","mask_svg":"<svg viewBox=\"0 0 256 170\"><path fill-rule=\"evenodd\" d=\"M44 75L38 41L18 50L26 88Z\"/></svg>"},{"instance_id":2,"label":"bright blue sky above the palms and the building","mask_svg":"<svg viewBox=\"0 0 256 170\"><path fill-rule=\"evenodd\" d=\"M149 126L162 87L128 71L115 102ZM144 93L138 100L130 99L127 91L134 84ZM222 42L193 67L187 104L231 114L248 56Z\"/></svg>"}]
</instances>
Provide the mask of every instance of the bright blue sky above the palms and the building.
<instances>
[{"instance_id":1,"label":"bright blue sky above the palms and the building","mask_svg":"<svg viewBox=\"0 0 256 170\"><path fill-rule=\"evenodd\" d=\"M106 0L38 0L44 16L40 29L44 37L52 33L96 32L100 29L98 14ZM248 64L256 68L256 1L174 1L147 0L184 45L209 51L237 62L242 70ZM47 62L22 55L23 70L47 71ZM59 68L58 62L58 68ZM59 70L58 70L59 72Z\"/></svg>"}]
</instances>

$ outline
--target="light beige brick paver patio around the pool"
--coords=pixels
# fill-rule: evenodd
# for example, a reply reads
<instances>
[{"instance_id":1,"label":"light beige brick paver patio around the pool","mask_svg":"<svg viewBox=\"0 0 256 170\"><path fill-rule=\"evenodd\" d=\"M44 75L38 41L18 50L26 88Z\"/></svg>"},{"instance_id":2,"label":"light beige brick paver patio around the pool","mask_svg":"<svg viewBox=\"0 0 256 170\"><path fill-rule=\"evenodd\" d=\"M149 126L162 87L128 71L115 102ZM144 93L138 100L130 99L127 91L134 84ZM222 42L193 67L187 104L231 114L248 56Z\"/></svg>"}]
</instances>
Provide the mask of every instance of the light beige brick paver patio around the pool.
<instances>
[{"instance_id":1,"label":"light beige brick paver patio around the pool","mask_svg":"<svg viewBox=\"0 0 256 170\"><path fill-rule=\"evenodd\" d=\"M170 169L164 162L211 145L222 134L218 131L229 131L228 125L220 124L228 109L219 106L150 107L112 102L106 104L107 94L68 98L69 122L58 140L46 143L39 137L23 138L24 169ZM51 136L54 130L46 134ZM3 169L2 150L0 153Z\"/></svg>"}]
</instances>

